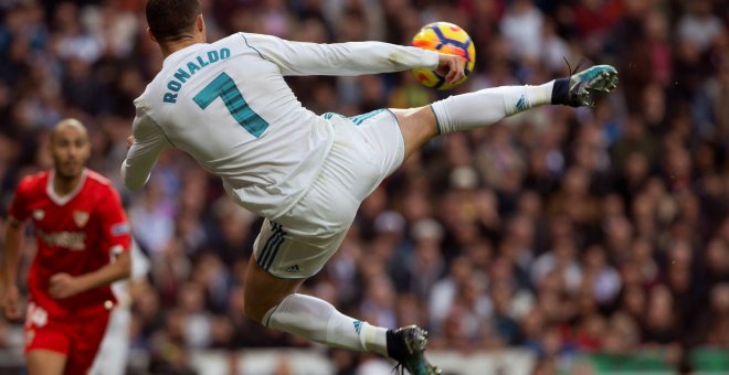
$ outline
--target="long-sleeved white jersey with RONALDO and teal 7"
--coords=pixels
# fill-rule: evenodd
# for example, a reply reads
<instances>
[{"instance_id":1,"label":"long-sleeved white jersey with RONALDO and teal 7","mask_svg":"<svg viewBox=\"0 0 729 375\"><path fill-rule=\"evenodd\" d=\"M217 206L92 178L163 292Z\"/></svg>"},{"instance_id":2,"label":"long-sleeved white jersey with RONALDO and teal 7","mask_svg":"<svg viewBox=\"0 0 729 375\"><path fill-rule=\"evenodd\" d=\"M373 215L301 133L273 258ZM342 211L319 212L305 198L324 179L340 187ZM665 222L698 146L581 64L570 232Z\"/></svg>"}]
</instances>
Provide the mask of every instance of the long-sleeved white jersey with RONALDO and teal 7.
<instances>
[{"instance_id":1,"label":"long-sleeved white jersey with RONALDO and teal 7","mask_svg":"<svg viewBox=\"0 0 729 375\"><path fill-rule=\"evenodd\" d=\"M135 100L124 183L146 183L161 151L178 148L222 178L247 210L275 219L311 185L334 142L329 119L296 99L286 75L434 69L439 54L381 42L314 44L236 33L165 58Z\"/></svg>"}]
</instances>

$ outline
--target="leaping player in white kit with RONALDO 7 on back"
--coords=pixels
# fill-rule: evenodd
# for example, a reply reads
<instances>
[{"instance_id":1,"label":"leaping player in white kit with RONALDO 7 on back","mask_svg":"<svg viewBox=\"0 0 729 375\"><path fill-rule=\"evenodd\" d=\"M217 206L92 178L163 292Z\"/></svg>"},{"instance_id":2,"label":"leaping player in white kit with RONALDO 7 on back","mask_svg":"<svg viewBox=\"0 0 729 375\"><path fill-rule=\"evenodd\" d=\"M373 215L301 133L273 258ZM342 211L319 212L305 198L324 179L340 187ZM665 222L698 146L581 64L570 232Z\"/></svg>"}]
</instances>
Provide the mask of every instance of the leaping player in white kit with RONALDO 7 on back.
<instances>
[{"instance_id":1,"label":"leaping player in white kit with RONALDO 7 on back","mask_svg":"<svg viewBox=\"0 0 729 375\"><path fill-rule=\"evenodd\" d=\"M380 353L418 375L440 373L424 358L424 330L371 325L296 293L299 285L335 254L362 200L426 140L536 106L590 105L617 82L612 66L599 65L540 86L488 88L421 108L317 116L284 76L426 67L451 83L463 77L463 61L380 42L313 44L250 33L208 44L199 0L148 0L146 13L165 62L135 100L124 183L144 185L168 148L189 153L236 203L266 218L244 286L251 319L329 346Z\"/></svg>"}]
</instances>

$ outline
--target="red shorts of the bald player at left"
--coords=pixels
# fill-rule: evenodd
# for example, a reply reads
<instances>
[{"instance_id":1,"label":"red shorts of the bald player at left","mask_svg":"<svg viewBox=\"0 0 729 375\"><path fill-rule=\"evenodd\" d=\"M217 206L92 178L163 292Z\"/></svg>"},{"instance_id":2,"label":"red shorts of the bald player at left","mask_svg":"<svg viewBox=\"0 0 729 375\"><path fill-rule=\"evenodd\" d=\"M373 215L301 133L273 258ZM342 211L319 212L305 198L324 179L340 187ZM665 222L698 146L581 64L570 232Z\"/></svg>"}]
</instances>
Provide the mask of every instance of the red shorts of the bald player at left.
<instances>
[{"instance_id":1,"label":"red shorts of the bald player at left","mask_svg":"<svg viewBox=\"0 0 729 375\"><path fill-rule=\"evenodd\" d=\"M54 319L30 302L25 317L25 353L46 350L65 354L64 374L86 374L104 339L110 312L106 309L85 311L83 317Z\"/></svg>"}]
</instances>

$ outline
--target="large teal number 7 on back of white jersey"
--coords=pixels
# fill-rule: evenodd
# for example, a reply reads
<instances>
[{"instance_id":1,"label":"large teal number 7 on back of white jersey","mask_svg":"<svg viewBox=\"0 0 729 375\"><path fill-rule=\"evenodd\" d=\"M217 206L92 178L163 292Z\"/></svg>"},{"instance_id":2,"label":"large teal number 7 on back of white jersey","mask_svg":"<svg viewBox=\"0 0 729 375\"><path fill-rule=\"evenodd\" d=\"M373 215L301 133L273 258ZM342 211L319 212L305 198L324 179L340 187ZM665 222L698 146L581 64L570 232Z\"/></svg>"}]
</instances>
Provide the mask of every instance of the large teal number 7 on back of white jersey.
<instances>
[{"instance_id":1,"label":"large teal number 7 on back of white jersey","mask_svg":"<svg viewBox=\"0 0 729 375\"><path fill-rule=\"evenodd\" d=\"M243 95L241 95L241 92L237 89L237 86L235 86L235 82L233 82L233 79L231 79L225 73L221 73L215 77L215 79L198 93L192 100L194 100L200 108L205 109L211 103L215 101L218 97L223 99L225 107L228 107L228 110L237 124L255 138L261 137L268 127L268 122L251 109L243 98Z\"/></svg>"}]
</instances>

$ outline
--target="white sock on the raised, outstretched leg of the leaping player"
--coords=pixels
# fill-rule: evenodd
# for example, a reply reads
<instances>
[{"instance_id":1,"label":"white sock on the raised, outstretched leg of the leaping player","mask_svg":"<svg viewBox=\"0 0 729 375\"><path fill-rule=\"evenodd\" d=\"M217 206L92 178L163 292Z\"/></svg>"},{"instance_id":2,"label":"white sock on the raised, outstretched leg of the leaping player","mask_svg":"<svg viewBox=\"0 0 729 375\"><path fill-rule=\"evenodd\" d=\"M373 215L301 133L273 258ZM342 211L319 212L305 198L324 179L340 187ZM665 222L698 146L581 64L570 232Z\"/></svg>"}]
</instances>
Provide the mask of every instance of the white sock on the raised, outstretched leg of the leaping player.
<instances>
[{"instance_id":1,"label":"white sock on the raised, outstretched leg of the leaping player","mask_svg":"<svg viewBox=\"0 0 729 375\"><path fill-rule=\"evenodd\" d=\"M450 96L431 105L442 135L492 125L504 117L551 104L554 81L539 86L501 86Z\"/></svg>"}]
</instances>

